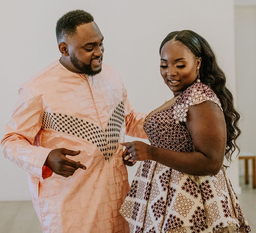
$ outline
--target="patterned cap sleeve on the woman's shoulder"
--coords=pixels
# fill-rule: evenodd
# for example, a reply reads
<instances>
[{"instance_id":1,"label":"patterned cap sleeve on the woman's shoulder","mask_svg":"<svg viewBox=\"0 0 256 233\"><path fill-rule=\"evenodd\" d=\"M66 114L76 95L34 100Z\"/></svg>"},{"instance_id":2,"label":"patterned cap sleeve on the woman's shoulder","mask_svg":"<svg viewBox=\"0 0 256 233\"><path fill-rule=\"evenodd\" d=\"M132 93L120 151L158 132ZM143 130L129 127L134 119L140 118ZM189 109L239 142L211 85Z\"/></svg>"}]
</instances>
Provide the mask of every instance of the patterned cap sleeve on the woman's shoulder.
<instances>
[{"instance_id":1,"label":"patterned cap sleeve on the woman's shoulder","mask_svg":"<svg viewBox=\"0 0 256 233\"><path fill-rule=\"evenodd\" d=\"M173 106L173 117L176 121L186 121L189 106L200 104L204 101L213 101L221 111L221 103L213 90L203 83L195 83L180 94Z\"/></svg>"}]
</instances>

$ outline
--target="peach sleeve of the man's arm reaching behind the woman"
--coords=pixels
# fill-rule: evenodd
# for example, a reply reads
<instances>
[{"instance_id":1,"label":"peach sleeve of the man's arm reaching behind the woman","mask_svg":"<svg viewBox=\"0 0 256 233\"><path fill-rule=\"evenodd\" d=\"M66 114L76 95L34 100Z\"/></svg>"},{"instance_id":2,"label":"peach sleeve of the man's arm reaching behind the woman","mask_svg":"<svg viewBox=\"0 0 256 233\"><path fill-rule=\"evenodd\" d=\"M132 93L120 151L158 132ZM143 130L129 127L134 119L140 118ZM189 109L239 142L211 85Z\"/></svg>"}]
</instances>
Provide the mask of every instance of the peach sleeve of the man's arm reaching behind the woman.
<instances>
[{"instance_id":1,"label":"peach sleeve of the man's arm reaching behind the woman","mask_svg":"<svg viewBox=\"0 0 256 233\"><path fill-rule=\"evenodd\" d=\"M148 139L144 129L144 120L147 113L135 112L127 99L127 91L123 85L124 111L125 111L125 125L126 134L132 137L139 137Z\"/></svg>"}]
</instances>

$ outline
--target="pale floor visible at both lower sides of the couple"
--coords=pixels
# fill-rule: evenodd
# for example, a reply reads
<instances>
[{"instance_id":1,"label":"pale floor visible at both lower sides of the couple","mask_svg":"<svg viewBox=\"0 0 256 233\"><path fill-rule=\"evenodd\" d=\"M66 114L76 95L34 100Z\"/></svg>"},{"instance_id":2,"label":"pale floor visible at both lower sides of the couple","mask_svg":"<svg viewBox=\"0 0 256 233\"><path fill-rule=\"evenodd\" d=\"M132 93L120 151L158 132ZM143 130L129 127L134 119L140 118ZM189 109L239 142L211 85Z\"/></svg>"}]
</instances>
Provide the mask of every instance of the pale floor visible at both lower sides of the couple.
<instances>
[{"instance_id":1,"label":"pale floor visible at both lower sides of the couple","mask_svg":"<svg viewBox=\"0 0 256 233\"><path fill-rule=\"evenodd\" d=\"M238 198L251 226L251 232L256 233L256 189L252 189L251 184L244 185L243 177L240 178L242 194ZM0 232L41 233L32 202L0 202Z\"/></svg>"}]
</instances>

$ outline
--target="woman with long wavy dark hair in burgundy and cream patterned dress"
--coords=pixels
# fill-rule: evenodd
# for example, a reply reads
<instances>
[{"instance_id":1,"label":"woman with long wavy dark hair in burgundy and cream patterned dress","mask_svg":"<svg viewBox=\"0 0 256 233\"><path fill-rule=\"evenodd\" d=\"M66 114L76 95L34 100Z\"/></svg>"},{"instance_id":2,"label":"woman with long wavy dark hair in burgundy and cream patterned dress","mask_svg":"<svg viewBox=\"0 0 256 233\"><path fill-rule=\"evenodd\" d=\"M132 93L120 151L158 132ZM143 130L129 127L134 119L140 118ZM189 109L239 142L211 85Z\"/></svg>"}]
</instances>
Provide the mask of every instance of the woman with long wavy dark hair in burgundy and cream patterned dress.
<instances>
[{"instance_id":1,"label":"woman with long wavy dark hair in burgundy and cream patterned dress","mask_svg":"<svg viewBox=\"0 0 256 233\"><path fill-rule=\"evenodd\" d=\"M121 143L124 164L143 161L121 214L131 232L250 232L223 165L238 148L240 116L210 45L175 31L160 56L174 98L145 119L151 145Z\"/></svg>"}]
</instances>

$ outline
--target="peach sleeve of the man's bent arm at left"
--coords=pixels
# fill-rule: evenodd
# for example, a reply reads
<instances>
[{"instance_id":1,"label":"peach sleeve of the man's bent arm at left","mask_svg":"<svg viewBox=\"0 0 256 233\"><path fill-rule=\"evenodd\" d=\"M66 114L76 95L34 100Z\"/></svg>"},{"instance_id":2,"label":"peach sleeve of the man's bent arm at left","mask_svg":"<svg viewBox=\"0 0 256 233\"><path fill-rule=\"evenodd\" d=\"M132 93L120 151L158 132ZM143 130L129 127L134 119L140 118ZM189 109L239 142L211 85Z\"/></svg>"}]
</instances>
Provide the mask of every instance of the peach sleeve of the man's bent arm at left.
<instances>
[{"instance_id":1,"label":"peach sleeve of the man's bent arm at left","mask_svg":"<svg viewBox=\"0 0 256 233\"><path fill-rule=\"evenodd\" d=\"M34 145L41 129L42 115L42 107L30 90L22 86L11 119L5 125L1 146L6 158L27 172L45 178L42 168L52 149Z\"/></svg>"}]
</instances>

